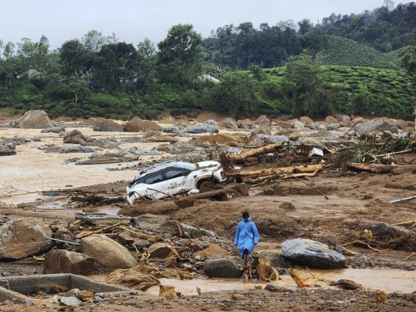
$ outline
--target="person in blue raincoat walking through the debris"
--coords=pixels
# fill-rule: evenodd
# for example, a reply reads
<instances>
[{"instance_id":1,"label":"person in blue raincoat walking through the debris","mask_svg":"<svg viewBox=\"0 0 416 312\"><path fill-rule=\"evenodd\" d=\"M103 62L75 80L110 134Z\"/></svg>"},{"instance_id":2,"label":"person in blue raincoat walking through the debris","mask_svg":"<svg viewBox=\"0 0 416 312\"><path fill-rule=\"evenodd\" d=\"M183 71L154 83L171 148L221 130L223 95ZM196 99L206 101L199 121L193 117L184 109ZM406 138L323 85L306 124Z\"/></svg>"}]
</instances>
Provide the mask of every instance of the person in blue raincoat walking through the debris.
<instances>
[{"instance_id":1,"label":"person in blue raincoat walking through the debris","mask_svg":"<svg viewBox=\"0 0 416 312\"><path fill-rule=\"evenodd\" d=\"M238 251L243 259L244 265L247 265L247 258L258 243L258 231L252 218L247 211L243 212L241 220L235 231L234 245L238 245Z\"/></svg>"}]
</instances>

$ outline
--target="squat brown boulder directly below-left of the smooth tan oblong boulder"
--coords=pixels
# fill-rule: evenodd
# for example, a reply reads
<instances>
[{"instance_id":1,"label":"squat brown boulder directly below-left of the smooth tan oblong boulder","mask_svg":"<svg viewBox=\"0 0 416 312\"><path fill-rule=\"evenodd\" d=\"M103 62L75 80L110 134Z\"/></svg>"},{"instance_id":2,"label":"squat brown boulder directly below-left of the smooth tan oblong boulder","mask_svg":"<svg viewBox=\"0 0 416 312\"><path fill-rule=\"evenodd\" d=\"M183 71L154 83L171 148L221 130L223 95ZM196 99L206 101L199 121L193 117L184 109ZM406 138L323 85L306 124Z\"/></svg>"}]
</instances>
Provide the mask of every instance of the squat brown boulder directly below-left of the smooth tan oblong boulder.
<instances>
[{"instance_id":1,"label":"squat brown boulder directly below-left of the smooth tan oblong boulder","mask_svg":"<svg viewBox=\"0 0 416 312\"><path fill-rule=\"evenodd\" d=\"M94 259L83 253L54 249L45 255L44 274L88 275L95 269Z\"/></svg>"}]
</instances>

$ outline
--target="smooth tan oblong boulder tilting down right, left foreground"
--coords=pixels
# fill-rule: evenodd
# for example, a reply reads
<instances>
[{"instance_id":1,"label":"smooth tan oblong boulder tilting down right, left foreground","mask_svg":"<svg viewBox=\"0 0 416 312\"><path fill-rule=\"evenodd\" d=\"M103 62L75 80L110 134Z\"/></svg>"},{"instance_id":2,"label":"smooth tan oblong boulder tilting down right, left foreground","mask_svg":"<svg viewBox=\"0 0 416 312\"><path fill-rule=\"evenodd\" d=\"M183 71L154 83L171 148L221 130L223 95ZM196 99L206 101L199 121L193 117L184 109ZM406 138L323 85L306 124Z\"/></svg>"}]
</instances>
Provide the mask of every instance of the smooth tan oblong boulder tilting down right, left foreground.
<instances>
[{"instance_id":1,"label":"smooth tan oblong boulder tilting down right, left foreground","mask_svg":"<svg viewBox=\"0 0 416 312\"><path fill-rule=\"evenodd\" d=\"M81 251L108 268L132 268L136 259L126 247L105 235L93 234L81 239Z\"/></svg>"}]
</instances>

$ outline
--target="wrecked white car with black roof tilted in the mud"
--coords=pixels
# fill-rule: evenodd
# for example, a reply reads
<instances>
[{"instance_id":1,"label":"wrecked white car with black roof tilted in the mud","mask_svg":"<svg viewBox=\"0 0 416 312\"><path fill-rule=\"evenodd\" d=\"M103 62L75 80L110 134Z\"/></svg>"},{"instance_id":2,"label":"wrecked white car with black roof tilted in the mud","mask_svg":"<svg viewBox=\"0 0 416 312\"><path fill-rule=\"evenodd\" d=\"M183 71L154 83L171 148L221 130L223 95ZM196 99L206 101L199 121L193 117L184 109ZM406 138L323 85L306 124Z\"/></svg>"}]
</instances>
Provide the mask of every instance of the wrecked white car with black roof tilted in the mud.
<instances>
[{"instance_id":1,"label":"wrecked white car with black roof tilted in the mud","mask_svg":"<svg viewBox=\"0 0 416 312\"><path fill-rule=\"evenodd\" d=\"M166 161L140 171L127 186L129 204L139 198L160 200L198 189L210 191L216 183L225 181L221 164L217 161L190 163Z\"/></svg>"}]
</instances>

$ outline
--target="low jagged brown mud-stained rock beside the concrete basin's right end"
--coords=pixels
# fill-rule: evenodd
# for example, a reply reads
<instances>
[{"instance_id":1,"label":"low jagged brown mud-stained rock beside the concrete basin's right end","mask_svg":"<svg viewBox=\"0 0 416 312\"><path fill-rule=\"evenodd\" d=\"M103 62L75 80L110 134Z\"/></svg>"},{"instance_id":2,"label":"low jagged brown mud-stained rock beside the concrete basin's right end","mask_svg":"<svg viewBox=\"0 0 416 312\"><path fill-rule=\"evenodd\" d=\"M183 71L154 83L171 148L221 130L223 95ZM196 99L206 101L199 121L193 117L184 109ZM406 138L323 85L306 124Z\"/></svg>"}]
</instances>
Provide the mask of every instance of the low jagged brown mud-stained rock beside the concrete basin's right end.
<instances>
[{"instance_id":1,"label":"low jagged brown mud-stained rock beside the concrete basin's right end","mask_svg":"<svg viewBox=\"0 0 416 312\"><path fill-rule=\"evenodd\" d=\"M112 272L104 283L118 284L123 287L145 291L161 282L154 276L132 270L131 268L118 268Z\"/></svg>"}]
</instances>

